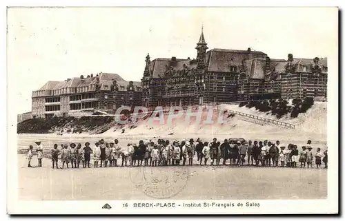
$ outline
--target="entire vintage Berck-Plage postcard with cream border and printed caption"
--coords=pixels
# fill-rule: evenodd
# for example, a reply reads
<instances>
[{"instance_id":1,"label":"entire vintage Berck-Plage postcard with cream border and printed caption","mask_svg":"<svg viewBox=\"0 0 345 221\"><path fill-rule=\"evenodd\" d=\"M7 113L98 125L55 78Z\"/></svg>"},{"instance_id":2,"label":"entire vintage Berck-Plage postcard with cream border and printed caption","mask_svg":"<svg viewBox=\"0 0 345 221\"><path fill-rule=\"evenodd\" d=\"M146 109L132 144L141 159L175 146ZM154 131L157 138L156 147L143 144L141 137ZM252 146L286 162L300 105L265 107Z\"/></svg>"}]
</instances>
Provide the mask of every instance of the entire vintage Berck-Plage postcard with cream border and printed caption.
<instances>
[{"instance_id":1,"label":"entire vintage Berck-Plage postcard with cream border and printed caption","mask_svg":"<svg viewBox=\"0 0 345 221\"><path fill-rule=\"evenodd\" d=\"M8 8L8 213L338 213L338 13Z\"/></svg>"}]
</instances>

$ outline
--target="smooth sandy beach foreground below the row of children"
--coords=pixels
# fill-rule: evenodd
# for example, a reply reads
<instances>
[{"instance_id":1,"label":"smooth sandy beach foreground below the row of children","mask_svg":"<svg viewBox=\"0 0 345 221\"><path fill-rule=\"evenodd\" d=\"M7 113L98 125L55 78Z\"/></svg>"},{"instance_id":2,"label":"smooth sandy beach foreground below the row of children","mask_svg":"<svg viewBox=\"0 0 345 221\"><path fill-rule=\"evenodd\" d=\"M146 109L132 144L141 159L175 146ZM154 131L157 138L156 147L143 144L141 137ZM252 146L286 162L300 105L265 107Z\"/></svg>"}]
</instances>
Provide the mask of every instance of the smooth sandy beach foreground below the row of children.
<instances>
[{"instance_id":1,"label":"smooth sandy beach foreground below the row of children","mask_svg":"<svg viewBox=\"0 0 345 221\"><path fill-rule=\"evenodd\" d=\"M33 165L36 161L34 158ZM25 157L20 155L20 200L273 200L327 197L327 169L228 166L52 169L48 159L43 159L43 167L26 166ZM175 182L174 176L181 177ZM156 189L159 194L148 191L150 188Z\"/></svg>"}]
</instances>

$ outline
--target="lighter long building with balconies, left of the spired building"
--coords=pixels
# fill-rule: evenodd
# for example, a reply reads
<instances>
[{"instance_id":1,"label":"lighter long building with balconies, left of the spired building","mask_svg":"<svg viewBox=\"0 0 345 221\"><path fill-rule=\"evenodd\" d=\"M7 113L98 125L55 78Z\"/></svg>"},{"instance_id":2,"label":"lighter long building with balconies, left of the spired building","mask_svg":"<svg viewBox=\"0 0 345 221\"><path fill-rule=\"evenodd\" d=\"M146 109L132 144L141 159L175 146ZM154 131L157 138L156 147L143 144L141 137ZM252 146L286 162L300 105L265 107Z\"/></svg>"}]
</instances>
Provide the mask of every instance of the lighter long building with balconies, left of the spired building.
<instances>
[{"instance_id":1,"label":"lighter long building with balconies, left of the spired building","mask_svg":"<svg viewBox=\"0 0 345 221\"><path fill-rule=\"evenodd\" d=\"M118 74L99 73L66 81L48 81L32 92L34 118L95 110L114 114L121 105L141 105L141 83L125 81Z\"/></svg>"}]
</instances>

